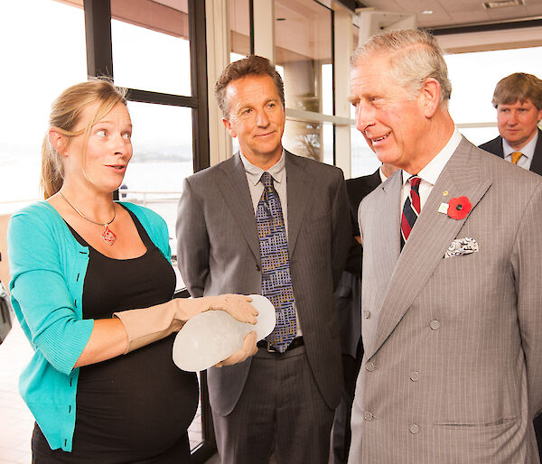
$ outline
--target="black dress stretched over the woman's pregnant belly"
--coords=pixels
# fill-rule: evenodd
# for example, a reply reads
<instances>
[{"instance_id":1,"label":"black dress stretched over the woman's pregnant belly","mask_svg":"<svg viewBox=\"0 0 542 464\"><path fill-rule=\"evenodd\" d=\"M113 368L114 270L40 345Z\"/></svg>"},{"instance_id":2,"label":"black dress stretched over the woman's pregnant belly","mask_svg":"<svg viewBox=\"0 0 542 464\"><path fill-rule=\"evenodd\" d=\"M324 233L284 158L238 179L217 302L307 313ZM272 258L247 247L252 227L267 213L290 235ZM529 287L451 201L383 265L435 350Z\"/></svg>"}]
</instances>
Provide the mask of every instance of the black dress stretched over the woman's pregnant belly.
<instances>
[{"instance_id":1,"label":"black dress stretched over the woman's pregnant belly","mask_svg":"<svg viewBox=\"0 0 542 464\"><path fill-rule=\"evenodd\" d=\"M147 251L118 260L89 246L83 286L83 318L107 319L115 311L146 308L171 300L175 275L135 215ZM127 355L79 368L77 410L71 452L51 450L36 424L33 462L188 463L186 429L198 405L198 381L173 364L175 334Z\"/></svg>"}]
</instances>

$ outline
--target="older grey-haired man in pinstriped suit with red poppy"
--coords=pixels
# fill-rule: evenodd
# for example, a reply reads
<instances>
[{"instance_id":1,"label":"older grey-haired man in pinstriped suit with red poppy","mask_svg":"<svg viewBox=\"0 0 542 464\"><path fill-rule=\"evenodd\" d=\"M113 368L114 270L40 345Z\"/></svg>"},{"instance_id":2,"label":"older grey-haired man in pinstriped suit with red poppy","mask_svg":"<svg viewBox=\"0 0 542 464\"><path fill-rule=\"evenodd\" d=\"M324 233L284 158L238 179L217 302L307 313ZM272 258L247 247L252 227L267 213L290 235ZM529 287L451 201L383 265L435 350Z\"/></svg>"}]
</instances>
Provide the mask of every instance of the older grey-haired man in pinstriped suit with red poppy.
<instances>
[{"instance_id":1,"label":"older grey-haired man in pinstriped suit with red poppy","mask_svg":"<svg viewBox=\"0 0 542 464\"><path fill-rule=\"evenodd\" d=\"M349 462L537 463L542 179L457 133L430 34L374 36L351 63L357 127L402 170L359 210Z\"/></svg>"}]
</instances>

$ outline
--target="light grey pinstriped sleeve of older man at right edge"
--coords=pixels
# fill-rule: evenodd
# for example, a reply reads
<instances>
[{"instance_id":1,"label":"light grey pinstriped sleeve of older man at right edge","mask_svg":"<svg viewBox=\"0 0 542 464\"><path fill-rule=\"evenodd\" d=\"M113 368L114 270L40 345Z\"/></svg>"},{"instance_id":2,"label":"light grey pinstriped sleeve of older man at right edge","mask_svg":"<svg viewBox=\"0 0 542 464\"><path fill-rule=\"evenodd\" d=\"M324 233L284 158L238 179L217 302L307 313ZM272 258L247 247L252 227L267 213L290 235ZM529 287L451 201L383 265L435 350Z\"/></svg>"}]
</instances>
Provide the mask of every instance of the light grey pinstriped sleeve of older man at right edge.
<instances>
[{"instance_id":1,"label":"light grey pinstriped sleeve of older man at right edge","mask_svg":"<svg viewBox=\"0 0 542 464\"><path fill-rule=\"evenodd\" d=\"M529 413L542 411L542 184L519 225L512 266L518 292L518 320L525 353Z\"/></svg>"}]
</instances>

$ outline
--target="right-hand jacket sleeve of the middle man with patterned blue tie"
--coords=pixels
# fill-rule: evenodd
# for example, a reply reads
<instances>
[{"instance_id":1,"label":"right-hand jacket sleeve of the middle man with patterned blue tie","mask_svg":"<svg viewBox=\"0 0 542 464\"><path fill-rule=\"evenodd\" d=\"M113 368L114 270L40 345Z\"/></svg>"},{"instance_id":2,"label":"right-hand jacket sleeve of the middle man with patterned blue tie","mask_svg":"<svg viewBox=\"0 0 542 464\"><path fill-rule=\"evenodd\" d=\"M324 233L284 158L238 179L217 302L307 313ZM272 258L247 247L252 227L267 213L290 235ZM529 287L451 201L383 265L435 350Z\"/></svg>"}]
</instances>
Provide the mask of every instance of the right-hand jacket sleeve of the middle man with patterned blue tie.
<instances>
[{"instance_id":1,"label":"right-hand jacket sleeve of the middle man with patterned blue tie","mask_svg":"<svg viewBox=\"0 0 542 464\"><path fill-rule=\"evenodd\" d=\"M339 284L352 245L350 222L350 202L346 193L346 182L341 172L332 204L333 289Z\"/></svg>"}]
</instances>

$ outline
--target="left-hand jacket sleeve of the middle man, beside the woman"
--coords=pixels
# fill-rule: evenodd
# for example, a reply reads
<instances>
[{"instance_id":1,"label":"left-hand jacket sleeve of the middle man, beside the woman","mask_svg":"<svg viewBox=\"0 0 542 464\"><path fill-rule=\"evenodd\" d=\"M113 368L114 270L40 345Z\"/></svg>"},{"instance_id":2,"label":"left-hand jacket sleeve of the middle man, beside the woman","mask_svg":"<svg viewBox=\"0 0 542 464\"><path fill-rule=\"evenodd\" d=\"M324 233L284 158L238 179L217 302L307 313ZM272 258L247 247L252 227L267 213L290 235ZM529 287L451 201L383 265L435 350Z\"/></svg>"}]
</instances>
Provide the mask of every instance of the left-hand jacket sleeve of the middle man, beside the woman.
<instances>
[{"instance_id":1,"label":"left-hand jacket sleeve of the middle man, beside the woman","mask_svg":"<svg viewBox=\"0 0 542 464\"><path fill-rule=\"evenodd\" d=\"M184 180L177 211L177 264L182 280L192 297L203 295L209 275L210 243L202 199Z\"/></svg>"}]
</instances>

